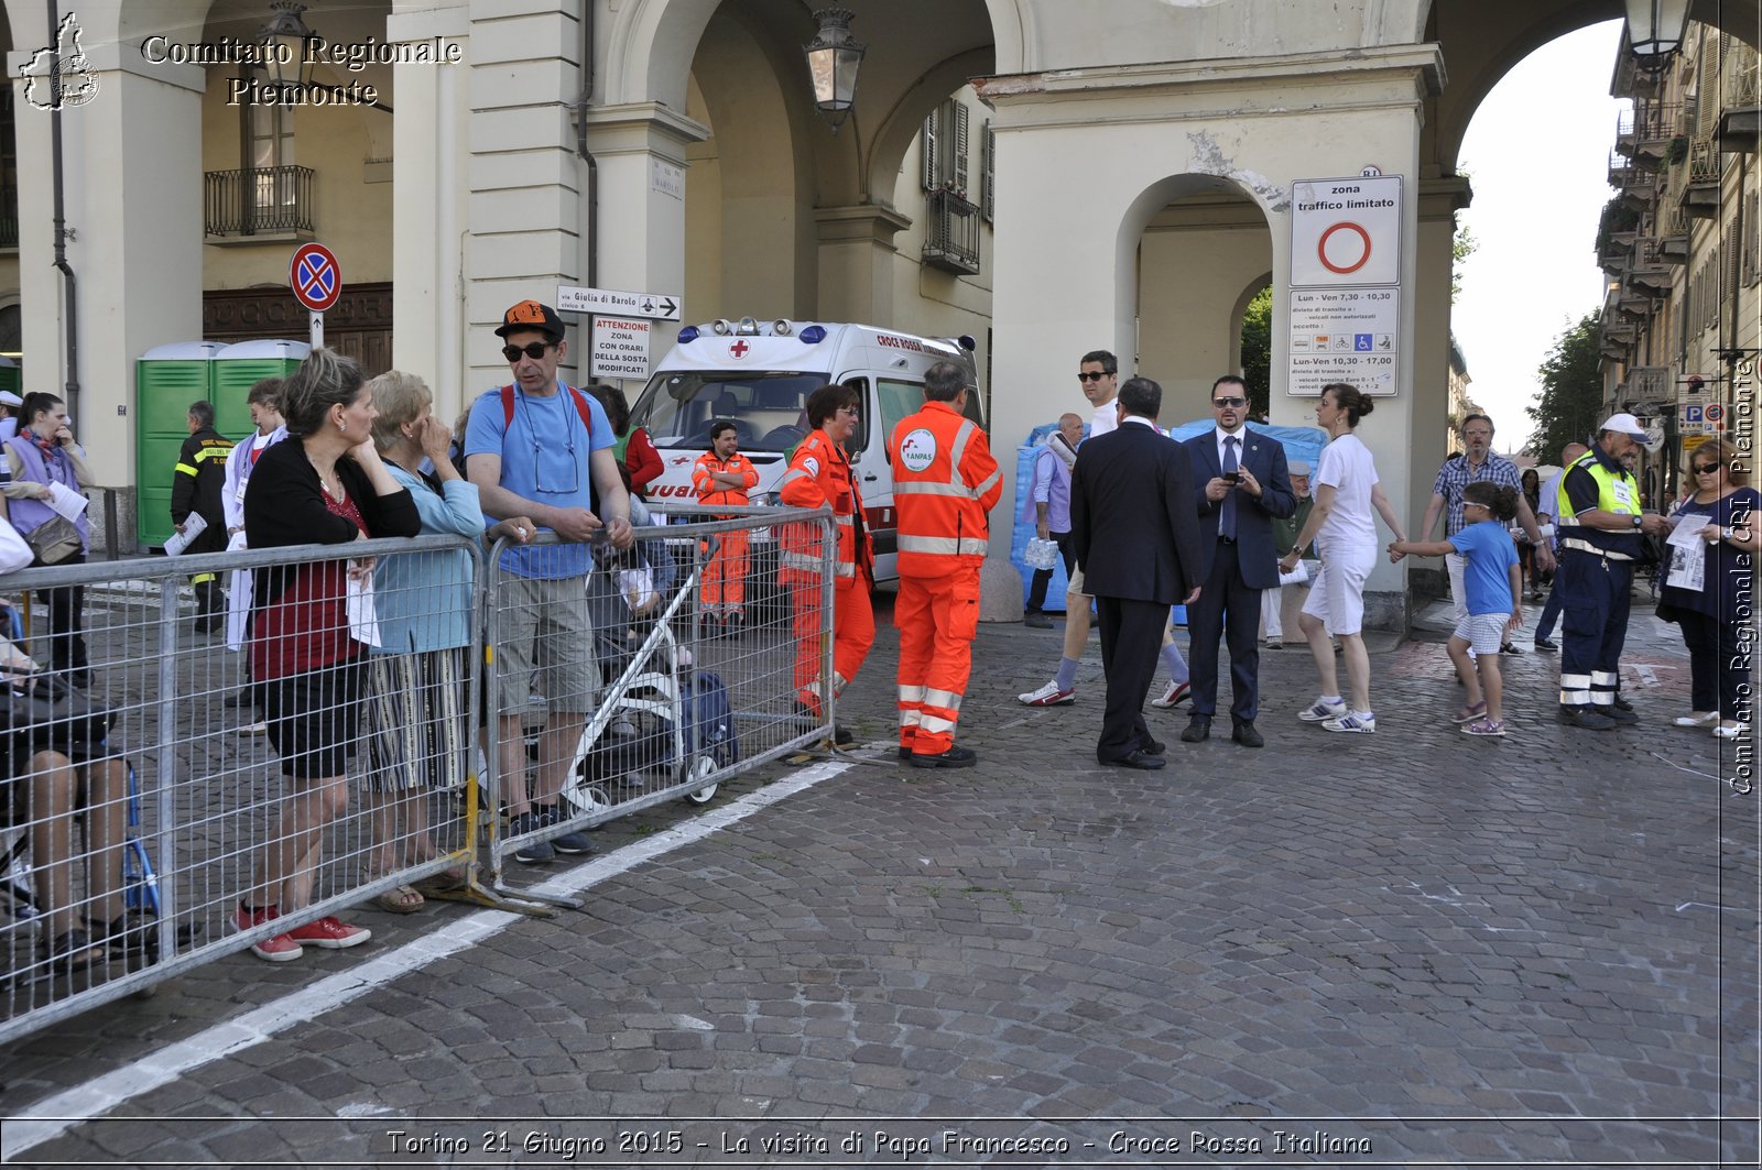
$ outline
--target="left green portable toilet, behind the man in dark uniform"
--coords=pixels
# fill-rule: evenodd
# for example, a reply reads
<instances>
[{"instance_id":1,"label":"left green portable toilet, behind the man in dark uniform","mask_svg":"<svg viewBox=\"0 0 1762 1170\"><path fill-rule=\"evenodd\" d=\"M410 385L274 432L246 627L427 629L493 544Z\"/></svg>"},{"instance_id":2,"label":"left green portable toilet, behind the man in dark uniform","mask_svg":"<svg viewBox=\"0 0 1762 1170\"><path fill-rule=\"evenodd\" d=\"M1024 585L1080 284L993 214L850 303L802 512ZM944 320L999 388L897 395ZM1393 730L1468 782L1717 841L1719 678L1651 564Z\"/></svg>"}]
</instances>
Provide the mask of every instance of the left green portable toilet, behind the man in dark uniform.
<instances>
[{"instance_id":1,"label":"left green portable toilet, behind the man in dark uniform","mask_svg":"<svg viewBox=\"0 0 1762 1170\"><path fill-rule=\"evenodd\" d=\"M164 544L171 523L171 476L190 437L189 412L211 402L215 354L222 342L173 342L141 354L134 367L134 530L143 548Z\"/></svg>"}]
</instances>

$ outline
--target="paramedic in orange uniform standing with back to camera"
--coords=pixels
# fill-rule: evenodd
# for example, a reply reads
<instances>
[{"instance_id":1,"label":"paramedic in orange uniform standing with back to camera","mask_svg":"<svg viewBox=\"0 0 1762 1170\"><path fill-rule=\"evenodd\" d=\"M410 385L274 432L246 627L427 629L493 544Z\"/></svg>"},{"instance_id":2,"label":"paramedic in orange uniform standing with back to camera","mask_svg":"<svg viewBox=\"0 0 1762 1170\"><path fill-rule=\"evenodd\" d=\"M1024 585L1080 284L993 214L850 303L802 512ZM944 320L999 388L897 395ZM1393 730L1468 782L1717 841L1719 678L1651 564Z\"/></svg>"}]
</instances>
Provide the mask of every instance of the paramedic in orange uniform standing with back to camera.
<instances>
[{"instance_id":1,"label":"paramedic in orange uniform standing with back to camera","mask_svg":"<svg viewBox=\"0 0 1762 1170\"><path fill-rule=\"evenodd\" d=\"M978 761L955 747L955 722L973 671L987 513L1003 495L1003 472L985 432L962 414L967 393L960 367L937 361L923 375L923 409L900 419L886 444L899 509L899 752L918 768Z\"/></svg>"}]
</instances>

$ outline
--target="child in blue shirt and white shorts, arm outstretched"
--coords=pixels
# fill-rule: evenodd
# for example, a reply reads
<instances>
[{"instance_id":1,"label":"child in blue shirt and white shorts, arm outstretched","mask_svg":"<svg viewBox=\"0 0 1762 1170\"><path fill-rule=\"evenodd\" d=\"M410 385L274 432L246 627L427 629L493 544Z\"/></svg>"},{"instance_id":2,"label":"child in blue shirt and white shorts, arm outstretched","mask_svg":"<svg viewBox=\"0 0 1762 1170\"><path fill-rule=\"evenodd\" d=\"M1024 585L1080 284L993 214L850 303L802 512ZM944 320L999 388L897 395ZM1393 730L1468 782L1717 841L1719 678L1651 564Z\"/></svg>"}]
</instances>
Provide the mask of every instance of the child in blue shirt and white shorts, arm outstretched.
<instances>
[{"instance_id":1,"label":"child in blue shirt and white shorts, arm outstretched","mask_svg":"<svg viewBox=\"0 0 1762 1170\"><path fill-rule=\"evenodd\" d=\"M1468 735L1505 735L1499 647L1507 633L1524 622L1524 580L1517 567L1517 544L1507 530L1515 515L1515 488L1477 481L1462 488L1461 532L1448 541L1396 541L1388 546L1390 553L1415 557L1461 553L1468 562L1462 571L1468 617L1457 624L1448 645L1450 661L1468 691L1468 705L1455 714L1455 722ZM1470 657L1470 647L1475 657Z\"/></svg>"}]
</instances>

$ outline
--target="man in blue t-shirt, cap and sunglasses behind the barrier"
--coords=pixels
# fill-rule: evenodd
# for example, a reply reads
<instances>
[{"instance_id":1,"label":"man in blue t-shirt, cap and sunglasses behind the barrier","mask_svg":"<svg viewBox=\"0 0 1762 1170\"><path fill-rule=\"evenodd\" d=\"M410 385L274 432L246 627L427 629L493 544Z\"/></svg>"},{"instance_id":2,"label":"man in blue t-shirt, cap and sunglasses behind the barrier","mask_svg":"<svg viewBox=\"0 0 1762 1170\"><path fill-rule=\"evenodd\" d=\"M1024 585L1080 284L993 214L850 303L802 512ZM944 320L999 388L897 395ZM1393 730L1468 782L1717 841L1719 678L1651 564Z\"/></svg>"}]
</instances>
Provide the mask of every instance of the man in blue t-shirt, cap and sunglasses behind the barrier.
<instances>
[{"instance_id":1,"label":"man in blue t-shirt, cap and sunglasses behind the barrier","mask_svg":"<svg viewBox=\"0 0 1762 1170\"><path fill-rule=\"evenodd\" d=\"M465 472L478 485L485 515L530 516L564 541L511 548L500 560L497 761L511 835L566 819L559 793L599 682L583 580L592 567L587 541L610 539L620 550L634 541L629 495L611 453L611 423L597 402L557 379L569 354L562 331L550 305L520 301L502 314L495 335L515 381L485 391L465 428ZM529 800L522 714L534 682L548 717ZM534 865L557 853L589 851L581 833L559 833L522 846L515 860Z\"/></svg>"}]
</instances>

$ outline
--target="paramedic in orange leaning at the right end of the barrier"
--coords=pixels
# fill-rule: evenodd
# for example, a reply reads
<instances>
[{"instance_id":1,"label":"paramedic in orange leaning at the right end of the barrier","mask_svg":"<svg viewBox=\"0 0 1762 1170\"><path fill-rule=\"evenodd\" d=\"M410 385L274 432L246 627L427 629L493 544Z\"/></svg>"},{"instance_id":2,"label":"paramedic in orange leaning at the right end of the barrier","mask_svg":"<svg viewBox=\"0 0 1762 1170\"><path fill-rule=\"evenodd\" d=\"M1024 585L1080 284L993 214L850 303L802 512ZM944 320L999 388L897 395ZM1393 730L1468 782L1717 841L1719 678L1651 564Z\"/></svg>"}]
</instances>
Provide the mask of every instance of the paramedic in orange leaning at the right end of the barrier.
<instances>
[{"instance_id":1,"label":"paramedic in orange leaning at the right end of the barrier","mask_svg":"<svg viewBox=\"0 0 1762 1170\"><path fill-rule=\"evenodd\" d=\"M839 530L832 587L832 620L819 620L821 550L819 525L781 525L782 559L777 578L789 587L795 610L795 685L796 703L814 719L819 707L819 636L833 629L832 692L840 694L862 670L869 647L876 641L876 615L869 604L874 581L874 552L863 525L863 497L851 476L844 442L856 433L856 407L862 391L855 386L821 386L807 396L807 421L814 430L795 449L789 470L777 490L788 507L832 507ZM851 733L833 728L837 744L849 744Z\"/></svg>"}]
</instances>

